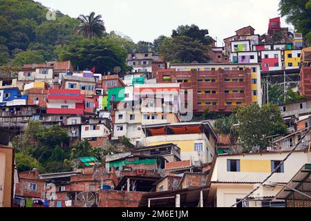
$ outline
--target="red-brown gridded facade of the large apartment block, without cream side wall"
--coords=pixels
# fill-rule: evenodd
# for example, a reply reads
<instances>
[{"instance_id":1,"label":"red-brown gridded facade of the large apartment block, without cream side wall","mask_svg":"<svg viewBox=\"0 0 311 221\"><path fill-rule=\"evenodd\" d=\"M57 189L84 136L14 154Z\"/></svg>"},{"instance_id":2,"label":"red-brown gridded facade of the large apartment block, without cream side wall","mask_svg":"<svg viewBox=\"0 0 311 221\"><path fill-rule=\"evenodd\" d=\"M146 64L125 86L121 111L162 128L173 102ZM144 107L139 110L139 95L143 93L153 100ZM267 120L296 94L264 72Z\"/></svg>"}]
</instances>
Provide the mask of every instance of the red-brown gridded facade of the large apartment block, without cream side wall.
<instances>
[{"instance_id":1,"label":"red-brown gridded facade of the large apartment block, without cream side wall","mask_svg":"<svg viewBox=\"0 0 311 221\"><path fill-rule=\"evenodd\" d=\"M215 68L214 68L215 69ZM209 111L230 112L235 106L252 103L251 70L191 70L158 71L158 83L180 83L181 89L192 89L194 113Z\"/></svg>"}]
</instances>

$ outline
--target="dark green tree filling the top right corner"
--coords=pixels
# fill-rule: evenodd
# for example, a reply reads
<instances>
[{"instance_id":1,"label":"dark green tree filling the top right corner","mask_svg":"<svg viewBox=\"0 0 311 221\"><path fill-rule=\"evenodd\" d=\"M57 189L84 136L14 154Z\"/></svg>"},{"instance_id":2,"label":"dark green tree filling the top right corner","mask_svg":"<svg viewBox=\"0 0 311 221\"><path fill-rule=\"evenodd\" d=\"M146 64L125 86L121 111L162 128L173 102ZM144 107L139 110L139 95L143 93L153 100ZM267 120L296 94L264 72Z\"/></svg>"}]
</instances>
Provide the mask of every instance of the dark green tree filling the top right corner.
<instances>
[{"instance_id":1,"label":"dark green tree filling the top right corner","mask_svg":"<svg viewBox=\"0 0 311 221\"><path fill-rule=\"evenodd\" d=\"M311 0L281 0L279 11L311 44Z\"/></svg>"}]
</instances>

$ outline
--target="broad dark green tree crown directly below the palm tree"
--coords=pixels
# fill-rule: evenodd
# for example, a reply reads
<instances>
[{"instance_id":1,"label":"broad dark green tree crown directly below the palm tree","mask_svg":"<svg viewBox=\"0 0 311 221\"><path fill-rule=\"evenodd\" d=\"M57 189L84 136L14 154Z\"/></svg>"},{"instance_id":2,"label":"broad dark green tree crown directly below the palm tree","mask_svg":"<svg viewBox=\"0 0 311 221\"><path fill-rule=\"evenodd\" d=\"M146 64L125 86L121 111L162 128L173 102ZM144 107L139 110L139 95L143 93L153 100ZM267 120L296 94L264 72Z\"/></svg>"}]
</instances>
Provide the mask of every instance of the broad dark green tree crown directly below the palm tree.
<instances>
[{"instance_id":1,"label":"broad dark green tree crown directly below the palm tree","mask_svg":"<svg viewBox=\"0 0 311 221\"><path fill-rule=\"evenodd\" d=\"M120 66L122 71L130 69L125 62L126 50L111 37L75 41L65 46L59 57L63 61L72 61L73 66L79 66L80 70L94 66L98 73L113 71L115 66Z\"/></svg>"}]
</instances>

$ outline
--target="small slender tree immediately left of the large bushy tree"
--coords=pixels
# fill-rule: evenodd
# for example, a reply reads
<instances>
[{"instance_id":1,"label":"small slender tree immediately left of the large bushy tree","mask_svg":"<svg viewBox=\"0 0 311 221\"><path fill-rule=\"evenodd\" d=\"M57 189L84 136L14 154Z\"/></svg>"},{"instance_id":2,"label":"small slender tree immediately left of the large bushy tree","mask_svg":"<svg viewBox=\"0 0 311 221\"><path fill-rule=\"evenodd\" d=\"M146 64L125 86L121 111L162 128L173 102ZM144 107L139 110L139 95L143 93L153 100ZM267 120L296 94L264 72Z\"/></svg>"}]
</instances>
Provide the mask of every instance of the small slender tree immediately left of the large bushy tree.
<instances>
[{"instance_id":1,"label":"small slender tree immediately left of the large bushy tree","mask_svg":"<svg viewBox=\"0 0 311 221\"><path fill-rule=\"evenodd\" d=\"M216 131L221 135L227 135L230 140L230 145L234 146L238 142L238 131L234 124L238 123L236 115L232 114L229 117L216 119Z\"/></svg>"}]
</instances>

